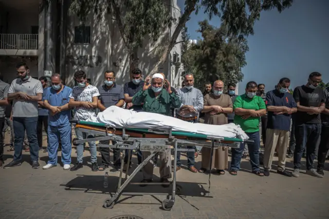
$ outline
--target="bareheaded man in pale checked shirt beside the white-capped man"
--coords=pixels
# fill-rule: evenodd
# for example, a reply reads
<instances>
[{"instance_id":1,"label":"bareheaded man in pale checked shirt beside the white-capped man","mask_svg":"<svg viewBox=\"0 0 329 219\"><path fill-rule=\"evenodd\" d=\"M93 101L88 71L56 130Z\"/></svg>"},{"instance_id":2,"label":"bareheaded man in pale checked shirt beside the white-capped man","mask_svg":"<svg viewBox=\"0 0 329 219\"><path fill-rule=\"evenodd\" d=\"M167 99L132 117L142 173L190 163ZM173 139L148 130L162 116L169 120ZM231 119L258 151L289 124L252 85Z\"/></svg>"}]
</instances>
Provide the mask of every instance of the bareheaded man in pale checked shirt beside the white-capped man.
<instances>
[{"instance_id":1,"label":"bareheaded man in pale checked shirt beside the white-capped man","mask_svg":"<svg viewBox=\"0 0 329 219\"><path fill-rule=\"evenodd\" d=\"M182 104L176 109L176 117L178 119L197 123L199 112L204 108L204 97L201 90L193 87L194 77L192 74L187 74L184 77L185 87L177 90L177 95L179 96ZM188 147L194 148L194 147ZM180 170L180 151L177 152L177 167L176 171ZM194 152L187 152L187 166L189 170L193 173L197 172L194 167Z\"/></svg>"}]
</instances>

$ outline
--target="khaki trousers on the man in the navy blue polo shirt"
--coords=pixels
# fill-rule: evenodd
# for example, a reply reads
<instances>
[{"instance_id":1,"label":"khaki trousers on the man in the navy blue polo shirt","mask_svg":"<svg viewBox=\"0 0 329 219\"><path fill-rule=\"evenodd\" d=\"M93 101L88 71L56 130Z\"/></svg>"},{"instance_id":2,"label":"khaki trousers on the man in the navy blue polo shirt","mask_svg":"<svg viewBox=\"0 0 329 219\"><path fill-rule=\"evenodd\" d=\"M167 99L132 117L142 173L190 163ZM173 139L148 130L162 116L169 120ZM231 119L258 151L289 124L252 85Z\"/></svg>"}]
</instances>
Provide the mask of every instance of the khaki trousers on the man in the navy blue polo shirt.
<instances>
[{"instance_id":1,"label":"khaki trousers on the man in the navy blue polo shirt","mask_svg":"<svg viewBox=\"0 0 329 219\"><path fill-rule=\"evenodd\" d=\"M285 170L286 154L289 144L289 131L267 129L264 150L264 169L271 169L274 152L278 153L278 170Z\"/></svg>"}]
</instances>

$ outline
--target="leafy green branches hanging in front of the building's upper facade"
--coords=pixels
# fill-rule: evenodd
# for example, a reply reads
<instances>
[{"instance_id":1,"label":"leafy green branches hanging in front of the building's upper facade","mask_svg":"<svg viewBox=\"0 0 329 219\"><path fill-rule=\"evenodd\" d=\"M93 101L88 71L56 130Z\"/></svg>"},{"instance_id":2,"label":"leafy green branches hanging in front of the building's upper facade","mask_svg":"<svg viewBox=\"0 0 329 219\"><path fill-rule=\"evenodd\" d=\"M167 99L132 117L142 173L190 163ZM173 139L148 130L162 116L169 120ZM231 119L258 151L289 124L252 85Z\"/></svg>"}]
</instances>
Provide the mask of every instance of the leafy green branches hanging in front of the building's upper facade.
<instances>
[{"instance_id":1,"label":"leafy green branches hanging in front of the building's upper facade","mask_svg":"<svg viewBox=\"0 0 329 219\"><path fill-rule=\"evenodd\" d=\"M147 37L156 41L174 21L162 0L72 0L69 12L85 22L89 13L101 19L104 8L112 16L114 14L122 38L131 51L142 47Z\"/></svg>"}]
</instances>

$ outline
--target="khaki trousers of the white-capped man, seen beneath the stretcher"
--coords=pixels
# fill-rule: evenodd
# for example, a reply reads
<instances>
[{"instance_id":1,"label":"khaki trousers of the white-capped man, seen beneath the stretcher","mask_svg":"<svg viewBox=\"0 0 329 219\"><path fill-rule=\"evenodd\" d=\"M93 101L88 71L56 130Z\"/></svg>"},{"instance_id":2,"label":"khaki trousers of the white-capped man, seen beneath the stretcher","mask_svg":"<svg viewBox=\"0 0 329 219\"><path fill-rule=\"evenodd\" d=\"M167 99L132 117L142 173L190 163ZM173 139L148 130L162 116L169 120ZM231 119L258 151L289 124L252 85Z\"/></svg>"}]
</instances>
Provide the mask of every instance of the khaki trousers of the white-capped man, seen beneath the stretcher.
<instances>
[{"instance_id":1,"label":"khaki trousers of the white-capped man, seen beneath the stretcher","mask_svg":"<svg viewBox=\"0 0 329 219\"><path fill-rule=\"evenodd\" d=\"M142 152L142 159L145 160L148 156L151 155L150 151ZM165 152L159 152L160 156L160 178L169 179L171 178L171 149L166 149ZM152 179L153 178L153 161L152 159L143 167L143 179Z\"/></svg>"}]
</instances>

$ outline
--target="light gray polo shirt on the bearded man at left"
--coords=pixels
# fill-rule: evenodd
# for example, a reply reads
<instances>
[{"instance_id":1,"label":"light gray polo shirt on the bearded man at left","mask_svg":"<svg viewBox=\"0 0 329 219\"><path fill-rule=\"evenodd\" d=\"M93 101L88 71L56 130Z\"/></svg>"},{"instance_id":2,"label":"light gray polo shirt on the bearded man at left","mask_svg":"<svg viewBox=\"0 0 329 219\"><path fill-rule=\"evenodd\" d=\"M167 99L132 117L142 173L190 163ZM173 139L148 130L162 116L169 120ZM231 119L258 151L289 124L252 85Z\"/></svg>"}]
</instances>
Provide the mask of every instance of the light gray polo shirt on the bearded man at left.
<instances>
[{"instance_id":1,"label":"light gray polo shirt on the bearded man at left","mask_svg":"<svg viewBox=\"0 0 329 219\"><path fill-rule=\"evenodd\" d=\"M42 94L42 84L39 80L29 77L26 81L18 78L12 81L8 94L23 92L30 96ZM12 106L13 117L38 117L38 102L15 99Z\"/></svg>"}]
</instances>

